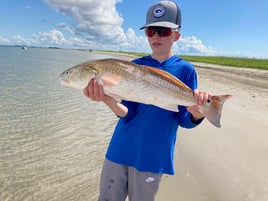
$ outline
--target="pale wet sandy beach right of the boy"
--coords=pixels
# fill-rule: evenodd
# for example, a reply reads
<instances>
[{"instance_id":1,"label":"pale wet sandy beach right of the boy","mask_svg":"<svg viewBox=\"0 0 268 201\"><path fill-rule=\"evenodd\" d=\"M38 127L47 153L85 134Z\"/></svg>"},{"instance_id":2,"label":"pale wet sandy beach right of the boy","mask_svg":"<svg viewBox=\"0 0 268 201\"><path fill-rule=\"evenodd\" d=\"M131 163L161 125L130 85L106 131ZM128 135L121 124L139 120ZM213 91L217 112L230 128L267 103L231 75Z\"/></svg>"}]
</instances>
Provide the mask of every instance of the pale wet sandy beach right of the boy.
<instances>
[{"instance_id":1,"label":"pale wet sandy beach right of the boy","mask_svg":"<svg viewBox=\"0 0 268 201\"><path fill-rule=\"evenodd\" d=\"M181 129L157 201L268 200L268 71L194 63L199 89L232 94L222 128Z\"/></svg>"}]
</instances>

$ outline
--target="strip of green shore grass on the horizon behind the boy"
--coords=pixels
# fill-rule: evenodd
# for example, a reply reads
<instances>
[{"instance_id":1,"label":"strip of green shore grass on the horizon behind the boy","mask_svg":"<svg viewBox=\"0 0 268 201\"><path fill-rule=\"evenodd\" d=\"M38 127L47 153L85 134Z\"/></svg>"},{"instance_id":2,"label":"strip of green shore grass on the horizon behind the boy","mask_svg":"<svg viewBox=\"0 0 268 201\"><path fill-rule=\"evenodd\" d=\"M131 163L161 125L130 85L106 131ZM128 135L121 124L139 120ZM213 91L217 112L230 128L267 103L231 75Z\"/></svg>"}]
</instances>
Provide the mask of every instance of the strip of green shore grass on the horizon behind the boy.
<instances>
[{"instance_id":1,"label":"strip of green shore grass on the horizon behind the boy","mask_svg":"<svg viewBox=\"0 0 268 201\"><path fill-rule=\"evenodd\" d=\"M99 51L99 52L103 52L103 51ZM137 57L148 55L148 54L139 53L139 52L124 52L124 51L118 51L118 52L105 51L105 52L115 53L115 54L133 55ZM223 57L223 56L189 56L189 55L180 55L180 57L190 62L200 62L200 63L209 63L209 64L224 65L224 66L268 70L268 59Z\"/></svg>"}]
</instances>

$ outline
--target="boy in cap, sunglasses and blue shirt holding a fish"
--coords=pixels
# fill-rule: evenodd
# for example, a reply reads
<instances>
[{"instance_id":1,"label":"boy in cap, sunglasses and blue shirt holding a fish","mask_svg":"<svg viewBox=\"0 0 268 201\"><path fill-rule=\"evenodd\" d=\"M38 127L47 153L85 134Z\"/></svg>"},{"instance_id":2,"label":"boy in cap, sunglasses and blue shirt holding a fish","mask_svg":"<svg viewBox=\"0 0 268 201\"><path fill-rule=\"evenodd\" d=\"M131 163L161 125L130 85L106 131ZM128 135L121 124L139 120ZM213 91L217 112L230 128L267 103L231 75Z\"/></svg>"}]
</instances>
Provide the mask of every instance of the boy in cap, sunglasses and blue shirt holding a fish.
<instances>
[{"instance_id":1,"label":"boy in cap, sunglasses and blue shirt holding a fish","mask_svg":"<svg viewBox=\"0 0 268 201\"><path fill-rule=\"evenodd\" d=\"M118 117L103 164L99 201L153 201L162 174L174 174L173 154L178 127L193 128L204 116L200 105L211 94L197 90L193 66L173 55L180 38L181 13L176 3L161 1L147 11L145 29L152 54L134 63L165 70L194 90L197 105L179 107L179 112L130 101L117 102L91 80L84 94L103 101Z\"/></svg>"}]
</instances>

